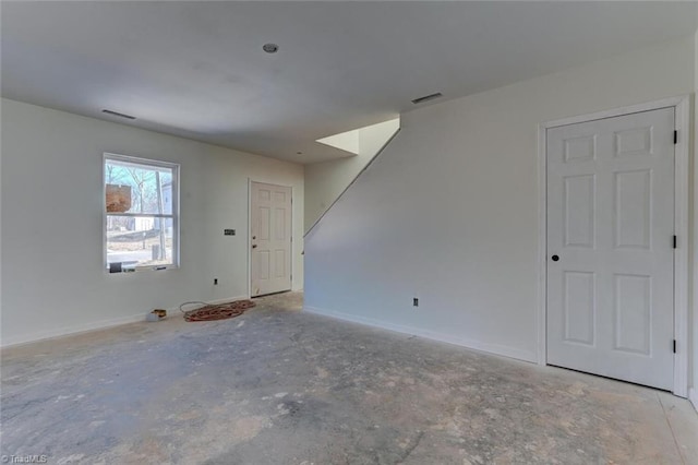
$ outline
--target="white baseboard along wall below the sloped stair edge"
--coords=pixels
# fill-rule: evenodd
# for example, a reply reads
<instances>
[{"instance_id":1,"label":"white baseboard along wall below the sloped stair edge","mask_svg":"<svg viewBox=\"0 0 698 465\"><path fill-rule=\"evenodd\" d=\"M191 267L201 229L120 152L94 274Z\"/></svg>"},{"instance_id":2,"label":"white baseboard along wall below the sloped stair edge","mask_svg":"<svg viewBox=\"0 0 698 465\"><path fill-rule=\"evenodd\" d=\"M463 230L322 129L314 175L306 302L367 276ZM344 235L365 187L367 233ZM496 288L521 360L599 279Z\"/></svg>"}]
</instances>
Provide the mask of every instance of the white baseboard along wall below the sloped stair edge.
<instances>
[{"instance_id":1,"label":"white baseboard along wall below the sloped stair edge","mask_svg":"<svg viewBox=\"0 0 698 465\"><path fill-rule=\"evenodd\" d=\"M515 358L517 360L529 361L538 363L538 355L534 351L521 350L516 347L503 346L500 344L489 344L480 341L467 339L462 337L452 336L448 334L437 333L429 330L421 330L411 326L402 326L399 324L388 323L385 321L374 320L366 317L358 317L354 314L336 312L330 310L318 309L315 307L303 307L303 310L309 313L321 314L324 317L336 318L338 320L350 321L352 323L365 324L369 326L376 326L383 330L395 331L396 333L410 334L414 336L424 337L428 339L440 341L443 343L454 344L461 347L467 347L474 350L486 351L494 355L501 355L504 357Z\"/></svg>"}]
</instances>

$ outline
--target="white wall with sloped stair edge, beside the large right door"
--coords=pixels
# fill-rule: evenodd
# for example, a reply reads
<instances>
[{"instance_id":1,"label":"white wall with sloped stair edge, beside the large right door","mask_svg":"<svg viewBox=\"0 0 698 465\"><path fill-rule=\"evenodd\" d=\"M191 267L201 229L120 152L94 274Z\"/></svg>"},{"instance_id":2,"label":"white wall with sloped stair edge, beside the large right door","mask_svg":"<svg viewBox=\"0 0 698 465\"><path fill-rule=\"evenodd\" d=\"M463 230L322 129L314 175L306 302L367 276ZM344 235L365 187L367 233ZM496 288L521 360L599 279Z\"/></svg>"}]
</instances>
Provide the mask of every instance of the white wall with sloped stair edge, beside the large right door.
<instances>
[{"instance_id":1,"label":"white wall with sloped stair edge, beside the large right door","mask_svg":"<svg viewBox=\"0 0 698 465\"><path fill-rule=\"evenodd\" d=\"M306 308L537 360L538 124L690 94L694 48L686 37L402 115L306 236Z\"/></svg>"}]
</instances>

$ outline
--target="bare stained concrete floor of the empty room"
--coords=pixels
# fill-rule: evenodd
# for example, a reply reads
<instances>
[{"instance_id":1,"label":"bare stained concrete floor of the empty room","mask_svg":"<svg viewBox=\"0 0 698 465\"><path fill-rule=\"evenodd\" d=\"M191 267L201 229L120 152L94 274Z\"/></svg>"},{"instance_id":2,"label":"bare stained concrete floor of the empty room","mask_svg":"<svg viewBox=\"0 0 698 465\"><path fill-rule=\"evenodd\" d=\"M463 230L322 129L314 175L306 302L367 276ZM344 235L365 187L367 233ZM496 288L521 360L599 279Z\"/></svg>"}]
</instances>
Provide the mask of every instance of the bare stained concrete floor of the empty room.
<instances>
[{"instance_id":1,"label":"bare stained concrete floor of the empty room","mask_svg":"<svg viewBox=\"0 0 698 465\"><path fill-rule=\"evenodd\" d=\"M667 393L300 312L2 353L1 453L89 464L698 464Z\"/></svg>"}]
</instances>

